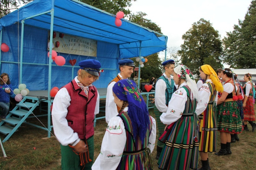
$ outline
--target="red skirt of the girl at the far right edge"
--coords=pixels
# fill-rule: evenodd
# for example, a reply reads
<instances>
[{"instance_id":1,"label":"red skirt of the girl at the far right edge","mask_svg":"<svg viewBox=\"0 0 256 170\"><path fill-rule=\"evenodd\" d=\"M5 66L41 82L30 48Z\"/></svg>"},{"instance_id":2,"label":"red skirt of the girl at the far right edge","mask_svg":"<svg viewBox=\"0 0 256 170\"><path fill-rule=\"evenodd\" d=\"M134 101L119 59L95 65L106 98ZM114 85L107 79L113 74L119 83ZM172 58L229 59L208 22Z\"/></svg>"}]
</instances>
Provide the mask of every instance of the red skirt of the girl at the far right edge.
<instances>
[{"instance_id":1,"label":"red skirt of the girl at the far right edge","mask_svg":"<svg viewBox=\"0 0 256 170\"><path fill-rule=\"evenodd\" d=\"M244 107L244 121L255 121L253 98L249 96Z\"/></svg>"}]
</instances>

